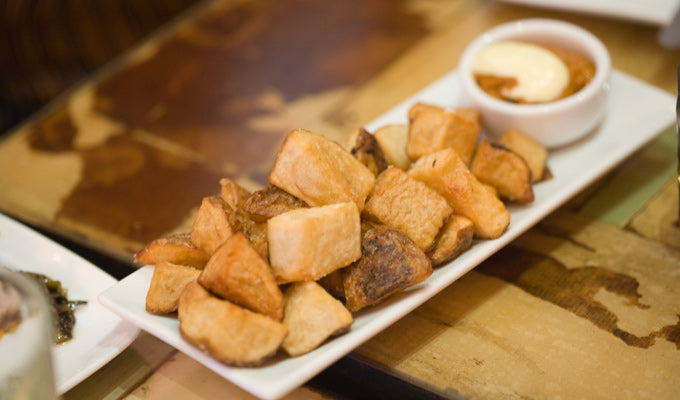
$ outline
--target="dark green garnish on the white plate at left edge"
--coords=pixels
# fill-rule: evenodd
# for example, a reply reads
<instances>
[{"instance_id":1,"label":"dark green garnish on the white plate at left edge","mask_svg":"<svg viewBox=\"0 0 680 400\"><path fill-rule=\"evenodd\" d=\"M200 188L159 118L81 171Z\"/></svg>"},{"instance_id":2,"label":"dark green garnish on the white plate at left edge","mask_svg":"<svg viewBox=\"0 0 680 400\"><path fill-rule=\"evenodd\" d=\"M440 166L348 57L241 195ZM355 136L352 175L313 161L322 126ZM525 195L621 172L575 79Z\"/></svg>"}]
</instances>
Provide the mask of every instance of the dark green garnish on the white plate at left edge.
<instances>
[{"instance_id":1,"label":"dark green garnish on the white plate at left edge","mask_svg":"<svg viewBox=\"0 0 680 400\"><path fill-rule=\"evenodd\" d=\"M50 306L54 315L54 343L62 344L73 338L73 327L76 324L75 311L78 306L87 304L84 300L69 300L68 291L46 275L35 272L22 271L41 284L45 294L49 298Z\"/></svg>"}]
</instances>

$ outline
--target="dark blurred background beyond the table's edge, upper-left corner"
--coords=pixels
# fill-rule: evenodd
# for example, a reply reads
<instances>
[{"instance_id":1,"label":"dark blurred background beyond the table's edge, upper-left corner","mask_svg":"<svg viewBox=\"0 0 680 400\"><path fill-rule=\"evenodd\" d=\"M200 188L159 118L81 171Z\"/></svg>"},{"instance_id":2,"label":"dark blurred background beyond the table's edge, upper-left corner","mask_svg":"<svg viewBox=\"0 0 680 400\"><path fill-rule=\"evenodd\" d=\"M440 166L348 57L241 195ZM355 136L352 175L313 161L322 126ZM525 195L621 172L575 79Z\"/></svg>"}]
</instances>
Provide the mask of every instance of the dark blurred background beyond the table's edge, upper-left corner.
<instances>
[{"instance_id":1,"label":"dark blurred background beyond the table's edge, upper-left corner","mask_svg":"<svg viewBox=\"0 0 680 400\"><path fill-rule=\"evenodd\" d=\"M0 0L0 132L199 0Z\"/></svg>"}]
</instances>

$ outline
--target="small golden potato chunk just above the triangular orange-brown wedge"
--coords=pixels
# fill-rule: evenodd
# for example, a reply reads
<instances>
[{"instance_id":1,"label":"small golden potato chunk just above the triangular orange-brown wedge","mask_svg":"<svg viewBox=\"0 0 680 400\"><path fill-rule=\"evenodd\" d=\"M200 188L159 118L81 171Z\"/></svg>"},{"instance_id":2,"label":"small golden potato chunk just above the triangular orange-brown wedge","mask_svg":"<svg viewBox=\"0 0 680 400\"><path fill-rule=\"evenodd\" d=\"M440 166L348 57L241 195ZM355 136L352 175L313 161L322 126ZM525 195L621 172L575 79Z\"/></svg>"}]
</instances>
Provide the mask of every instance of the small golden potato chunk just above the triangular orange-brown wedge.
<instances>
[{"instance_id":1,"label":"small golden potato chunk just above the triangular orange-brown wedge","mask_svg":"<svg viewBox=\"0 0 680 400\"><path fill-rule=\"evenodd\" d=\"M235 211L222 197L204 197L191 227L191 242L212 255L239 228Z\"/></svg>"}]
</instances>

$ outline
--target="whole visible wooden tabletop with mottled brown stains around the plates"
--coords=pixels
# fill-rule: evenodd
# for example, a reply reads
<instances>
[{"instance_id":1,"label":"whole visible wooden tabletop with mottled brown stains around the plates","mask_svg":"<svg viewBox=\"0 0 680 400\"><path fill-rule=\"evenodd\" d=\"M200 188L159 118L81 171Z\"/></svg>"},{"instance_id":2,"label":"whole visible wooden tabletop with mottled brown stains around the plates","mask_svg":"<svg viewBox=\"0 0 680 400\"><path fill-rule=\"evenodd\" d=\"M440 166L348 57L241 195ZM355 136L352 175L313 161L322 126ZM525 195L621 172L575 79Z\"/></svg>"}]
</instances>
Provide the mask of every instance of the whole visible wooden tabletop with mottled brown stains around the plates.
<instances>
[{"instance_id":1,"label":"whole visible wooden tabletop with mottled brown stains around the plates","mask_svg":"<svg viewBox=\"0 0 680 400\"><path fill-rule=\"evenodd\" d=\"M206 1L2 137L0 211L131 265L188 230L221 177L261 187L292 128L339 140L528 17L590 30L614 68L675 95L680 51L634 21L489 0ZM358 365L420 396L677 398L676 153L669 126L287 398L339 398L340 378L371 393ZM141 333L64 398L217 396L252 397Z\"/></svg>"}]
</instances>

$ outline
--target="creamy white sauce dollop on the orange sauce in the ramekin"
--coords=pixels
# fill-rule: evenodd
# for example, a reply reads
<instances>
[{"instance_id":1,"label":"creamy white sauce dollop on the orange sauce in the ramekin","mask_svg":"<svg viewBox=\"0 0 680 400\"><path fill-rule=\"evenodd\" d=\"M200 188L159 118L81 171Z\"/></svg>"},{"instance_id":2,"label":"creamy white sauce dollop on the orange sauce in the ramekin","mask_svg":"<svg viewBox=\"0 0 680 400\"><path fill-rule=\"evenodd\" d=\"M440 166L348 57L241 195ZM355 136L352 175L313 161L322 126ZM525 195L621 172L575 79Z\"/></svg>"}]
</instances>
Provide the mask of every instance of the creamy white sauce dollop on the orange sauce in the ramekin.
<instances>
[{"instance_id":1,"label":"creamy white sauce dollop on the orange sauce in the ramekin","mask_svg":"<svg viewBox=\"0 0 680 400\"><path fill-rule=\"evenodd\" d=\"M483 48L472 63L474 74L513 77L517 85L501 94L530 103L555 100L569 84L567 65L550 50L530 43L504 41Z\"/></svg>"}]
</instances>

